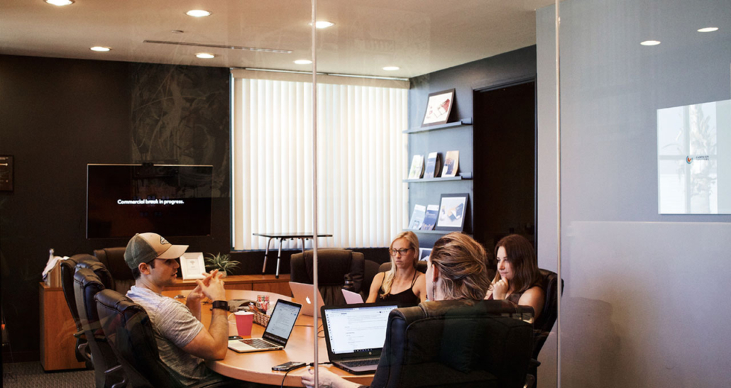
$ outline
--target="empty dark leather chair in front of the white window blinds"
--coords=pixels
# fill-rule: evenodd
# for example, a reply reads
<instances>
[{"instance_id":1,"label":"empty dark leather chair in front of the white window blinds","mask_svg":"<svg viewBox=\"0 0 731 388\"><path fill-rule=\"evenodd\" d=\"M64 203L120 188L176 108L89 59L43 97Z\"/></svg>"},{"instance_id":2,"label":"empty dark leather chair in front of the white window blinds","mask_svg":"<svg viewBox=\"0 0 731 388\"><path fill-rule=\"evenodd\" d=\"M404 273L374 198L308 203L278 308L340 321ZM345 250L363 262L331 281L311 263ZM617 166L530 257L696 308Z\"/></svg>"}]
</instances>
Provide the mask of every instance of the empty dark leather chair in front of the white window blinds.
<instances>
[{"instance_id":1,"label":"empty dark leather chair in front of the white window blinds","mask_svg":"<svg viewBox=\"0 0 731 388\"><path fill-rule=\"evenodd\" d=\"M322 249L317 251L319 271L317 280L322 302L325 305L344 305L345 298L341 289L345 275L353 281L353 292L363 289L365 259L360 252L346 249ZM291 280L295 283L312 284L312 251L293 254L289 262Z\"/></svg>"}]
</instances>

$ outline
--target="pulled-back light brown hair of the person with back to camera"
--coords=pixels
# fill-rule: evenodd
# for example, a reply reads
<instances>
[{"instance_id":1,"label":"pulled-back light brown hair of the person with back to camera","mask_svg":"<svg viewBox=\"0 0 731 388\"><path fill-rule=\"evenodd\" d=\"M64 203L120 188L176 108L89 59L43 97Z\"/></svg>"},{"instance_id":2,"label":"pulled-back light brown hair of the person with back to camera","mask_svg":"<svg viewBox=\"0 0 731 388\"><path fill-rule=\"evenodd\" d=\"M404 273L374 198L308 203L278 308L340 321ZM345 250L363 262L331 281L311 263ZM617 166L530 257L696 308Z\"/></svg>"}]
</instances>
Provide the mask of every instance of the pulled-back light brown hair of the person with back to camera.
<instances>
[{"instance_id":1,"label":"pulled-back light brown hair of the person with back to camera","mask_svg":"<svg viewBox=\"0 0 731 388\"><path fill-rule=\"evenodd\" d=\"M482 300L490 279L485 248L468 235L452 232L434 243L431 265L439 269L445 299Z\"/></svg>"}]
</instances>

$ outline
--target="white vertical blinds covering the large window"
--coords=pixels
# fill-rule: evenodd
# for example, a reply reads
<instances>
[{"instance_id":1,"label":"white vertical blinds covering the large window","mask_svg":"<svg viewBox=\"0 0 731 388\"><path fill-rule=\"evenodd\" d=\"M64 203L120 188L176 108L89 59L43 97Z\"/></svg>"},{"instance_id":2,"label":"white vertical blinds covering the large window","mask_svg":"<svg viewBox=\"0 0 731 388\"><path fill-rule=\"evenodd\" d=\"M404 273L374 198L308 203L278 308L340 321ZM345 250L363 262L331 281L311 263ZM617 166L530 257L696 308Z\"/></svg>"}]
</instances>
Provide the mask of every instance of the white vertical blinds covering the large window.
<instances>
[{"instance_id":1,"label":"white vertical blinds covering the large window","mask_svg":"<svg viewBox=\"0 0 731 388\"><path fill-rule=\"evenodd\" d=\"M233 78L232 241L312 232L312 83ZM388 246L408 220L406 88L317 83L319 246ZM283 248L295 248L295 243Z\"/></svg>"}]
</instances>

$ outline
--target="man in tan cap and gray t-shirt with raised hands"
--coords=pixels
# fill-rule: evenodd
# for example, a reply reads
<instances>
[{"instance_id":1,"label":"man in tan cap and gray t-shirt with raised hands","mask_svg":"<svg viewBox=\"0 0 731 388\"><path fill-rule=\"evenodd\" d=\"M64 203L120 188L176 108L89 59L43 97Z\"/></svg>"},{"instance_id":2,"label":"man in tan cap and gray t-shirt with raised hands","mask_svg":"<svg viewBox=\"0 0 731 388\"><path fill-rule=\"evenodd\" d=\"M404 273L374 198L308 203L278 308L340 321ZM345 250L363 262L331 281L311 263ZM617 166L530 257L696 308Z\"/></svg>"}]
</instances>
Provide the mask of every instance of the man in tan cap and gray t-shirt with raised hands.
<instances>
[{"instance_id":1,"label":"man in tan cap and gray t-shirt with raised hands","mask_svg":"<svg viewBox=\"0 0 731 388\"><path fill-rule=\"evenodd\" d=\"M196 281L185 305L161 294L164 286L173 285L180 267L177 259L186 249L188 246L174 246L156 233L142 233L127 243L124 261L135 277L127 297L150 316L160 360L178 381L190 385L222 378L206 368L203 360L221 360L226 355L228 303L217 270ZM203 297L213 301L208 329L200 322Z\"/></svg>"}]
</instances>

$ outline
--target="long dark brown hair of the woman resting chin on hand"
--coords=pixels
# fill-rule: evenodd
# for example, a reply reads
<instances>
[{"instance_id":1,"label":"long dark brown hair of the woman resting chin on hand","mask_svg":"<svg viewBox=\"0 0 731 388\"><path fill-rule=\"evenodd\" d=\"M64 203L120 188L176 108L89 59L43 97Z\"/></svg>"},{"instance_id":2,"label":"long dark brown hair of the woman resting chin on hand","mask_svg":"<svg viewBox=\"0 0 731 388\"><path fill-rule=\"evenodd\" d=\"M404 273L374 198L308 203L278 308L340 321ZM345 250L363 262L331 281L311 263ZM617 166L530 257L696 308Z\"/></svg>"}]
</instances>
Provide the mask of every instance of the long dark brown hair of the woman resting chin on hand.
<instances>
[{"instance_id":1,"label":"long dark brown hair of the woman resting chin on hand","mask_svg":"<svg viewBox=\"0 0 731 388\"><path fill-rule=\"evenodd\" d=\"M535 286L540 279L538 270L538 259L536 251L531 242L521 235L508 235L502 237L495 245L495 257L498 256L498 249L503 247L507 261L512 266L513 294L522 294L527 289ZM496 273L493 283L500 280L500 273Z\"/></svg>"}]
</instances>

